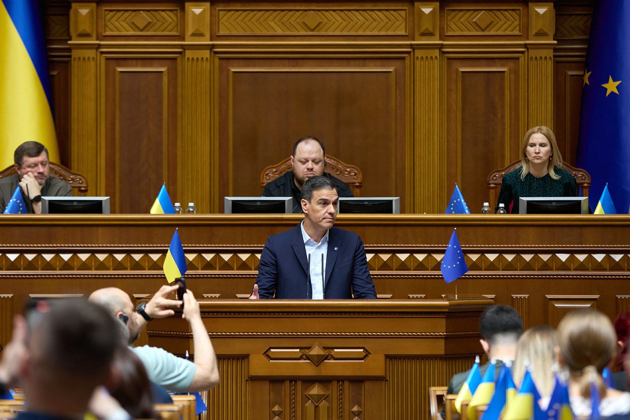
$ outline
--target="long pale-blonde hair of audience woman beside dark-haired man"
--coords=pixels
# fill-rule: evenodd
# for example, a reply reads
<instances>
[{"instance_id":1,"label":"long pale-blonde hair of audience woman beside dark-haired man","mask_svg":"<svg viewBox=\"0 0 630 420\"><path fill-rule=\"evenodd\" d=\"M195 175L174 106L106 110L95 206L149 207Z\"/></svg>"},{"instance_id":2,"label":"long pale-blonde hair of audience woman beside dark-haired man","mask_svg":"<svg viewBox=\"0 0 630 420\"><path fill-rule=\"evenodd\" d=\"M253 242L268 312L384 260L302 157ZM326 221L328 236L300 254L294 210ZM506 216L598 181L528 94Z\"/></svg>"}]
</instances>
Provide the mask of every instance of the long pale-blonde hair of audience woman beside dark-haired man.
<instances>
[{"instance_id":1,"label":"long pale-blonde hair of audience woman beside dark-haired man","mask_svg":"<svg viewBox=\"0 0 630 420\"><path fill-rule=\"evenodd\" d=\"M514 383L520 388L525 367L529 372L542 397L549 397L555 384L553 368L558 358L556 331L549 326L539 325L525 331L518 339L516 360L512 369Z\"/></svg>"}]
</instances>

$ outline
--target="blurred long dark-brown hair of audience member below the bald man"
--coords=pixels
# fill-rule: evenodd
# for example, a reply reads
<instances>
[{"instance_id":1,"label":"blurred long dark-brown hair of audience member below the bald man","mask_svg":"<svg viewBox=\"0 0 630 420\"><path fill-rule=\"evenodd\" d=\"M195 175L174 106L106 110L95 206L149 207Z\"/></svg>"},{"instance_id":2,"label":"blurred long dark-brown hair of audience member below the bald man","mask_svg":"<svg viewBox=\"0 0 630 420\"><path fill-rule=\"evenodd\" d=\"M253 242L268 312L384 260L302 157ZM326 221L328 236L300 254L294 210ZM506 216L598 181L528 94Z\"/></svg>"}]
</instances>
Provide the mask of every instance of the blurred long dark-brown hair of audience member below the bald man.
<instances>
[{"instance_id":1,"label":"blurred long dark-brown hair of audience member below the bald man","mask_svg":"<svg viewBox=\"0 0 630 420\"><path fill-rule=\"evenodd\" d=\"M155 417L151 382L142 361L128 347L120 346L113 363L116 383L110 387L110 395L134 419Z\"/></svg>"}]
</instances>

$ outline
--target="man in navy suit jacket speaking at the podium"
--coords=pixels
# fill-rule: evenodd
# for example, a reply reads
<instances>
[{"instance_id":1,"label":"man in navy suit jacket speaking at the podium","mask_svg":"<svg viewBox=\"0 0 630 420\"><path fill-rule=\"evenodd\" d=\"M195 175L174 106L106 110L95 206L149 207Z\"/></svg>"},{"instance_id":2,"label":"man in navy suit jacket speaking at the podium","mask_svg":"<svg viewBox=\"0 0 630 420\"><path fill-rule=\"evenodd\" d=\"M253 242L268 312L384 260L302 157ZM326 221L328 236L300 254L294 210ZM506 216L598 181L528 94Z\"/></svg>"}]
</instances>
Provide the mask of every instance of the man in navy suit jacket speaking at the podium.
<instances>
[{"instance_id":1,"label":"man in navy suit jacket speaking at the podium","mask_svg":"<svg viewBox=\"0 0 630 420\"><path fill-rule=\"evenodd\" d=\"M376 298L361 238L333 227L338 201L330 179L313 176L304 183L304 220L269 237L251 299Z\"/></svg>"}]
</instances>

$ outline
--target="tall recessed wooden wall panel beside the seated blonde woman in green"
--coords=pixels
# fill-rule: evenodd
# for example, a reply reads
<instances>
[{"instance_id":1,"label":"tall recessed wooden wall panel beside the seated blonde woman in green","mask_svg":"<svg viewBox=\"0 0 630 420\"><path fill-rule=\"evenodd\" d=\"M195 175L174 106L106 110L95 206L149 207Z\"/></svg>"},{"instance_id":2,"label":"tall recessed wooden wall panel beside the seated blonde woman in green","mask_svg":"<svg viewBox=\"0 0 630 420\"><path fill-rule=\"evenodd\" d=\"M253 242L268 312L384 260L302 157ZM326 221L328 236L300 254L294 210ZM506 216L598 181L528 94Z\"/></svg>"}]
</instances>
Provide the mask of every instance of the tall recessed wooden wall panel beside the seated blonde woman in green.
<instances>
[{"instance_id":1,"label":"tall recessed wooden wall panel beside the seated blonde woman in green","mask_svg":"<svg viewBox=\"0 0 630 420\"><path fill-rule=\"evenodd\" d=\"M527 86L524 50L445 51L447 195L457 183L469 209L477 213L488 200L488 173L518 158Z\"/></svg>"}]
</instances>

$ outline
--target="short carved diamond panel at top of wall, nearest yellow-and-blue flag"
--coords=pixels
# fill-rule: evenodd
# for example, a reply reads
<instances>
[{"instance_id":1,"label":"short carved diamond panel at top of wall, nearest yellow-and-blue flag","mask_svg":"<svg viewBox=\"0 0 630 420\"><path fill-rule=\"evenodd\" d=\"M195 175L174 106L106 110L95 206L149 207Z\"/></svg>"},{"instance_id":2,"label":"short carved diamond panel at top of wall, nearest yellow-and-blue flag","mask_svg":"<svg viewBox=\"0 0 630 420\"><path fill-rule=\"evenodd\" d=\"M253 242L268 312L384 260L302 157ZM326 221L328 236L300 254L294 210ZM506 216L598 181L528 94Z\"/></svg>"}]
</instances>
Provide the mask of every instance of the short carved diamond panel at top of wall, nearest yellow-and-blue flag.
<instances>
[{"instance_id":1,"label":"short carved diamond panel at top of wall, nearest yellow-and-blue flag","mask_svg":"<svg viewBox=\"0 0 630 420\"><path fill-rule=\"evenodd\" d=\"M180 35L180 9L103 9L103 35Z\"/></svg>"}]
</instances>

